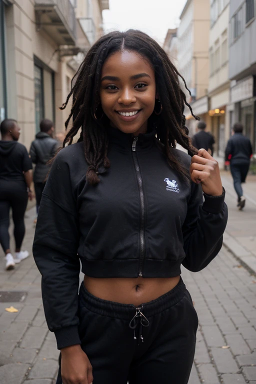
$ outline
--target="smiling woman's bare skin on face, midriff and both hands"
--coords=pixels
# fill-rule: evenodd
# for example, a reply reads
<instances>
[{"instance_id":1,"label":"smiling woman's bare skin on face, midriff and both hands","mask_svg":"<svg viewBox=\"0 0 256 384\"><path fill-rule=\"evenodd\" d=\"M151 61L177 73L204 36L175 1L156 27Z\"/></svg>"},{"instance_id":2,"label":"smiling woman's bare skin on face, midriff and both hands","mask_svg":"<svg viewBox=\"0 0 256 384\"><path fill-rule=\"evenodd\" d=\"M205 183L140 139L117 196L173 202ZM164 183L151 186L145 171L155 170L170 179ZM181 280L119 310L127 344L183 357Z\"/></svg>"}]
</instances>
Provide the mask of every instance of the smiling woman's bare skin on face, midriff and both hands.
<instances>
[{"instance_id":1,"label":"smiling woman's bare skin on face, midriff and both hands","mask_svg":"<svg viewBox=\"0 0 256 384\"><path fill-rule=\"evenodd\" d=\"M154 70L147 59L136 52L125 50L108 57L102 67L100 102L112 126L134 136L145 133L155 98ZM135 115L122 116L120 113L124 112L135 112ZM192 157L190 175L193 182L201 182L205 193L213 196L222 194L218 163L204 149ZM137 306L168 292L178 283L179 278L179 275L169 278L84 276L84 285L94 296ZM92 367L80 345L62 348L61 358L63 384L92 383Z\"/></svg>"}]
</instances>

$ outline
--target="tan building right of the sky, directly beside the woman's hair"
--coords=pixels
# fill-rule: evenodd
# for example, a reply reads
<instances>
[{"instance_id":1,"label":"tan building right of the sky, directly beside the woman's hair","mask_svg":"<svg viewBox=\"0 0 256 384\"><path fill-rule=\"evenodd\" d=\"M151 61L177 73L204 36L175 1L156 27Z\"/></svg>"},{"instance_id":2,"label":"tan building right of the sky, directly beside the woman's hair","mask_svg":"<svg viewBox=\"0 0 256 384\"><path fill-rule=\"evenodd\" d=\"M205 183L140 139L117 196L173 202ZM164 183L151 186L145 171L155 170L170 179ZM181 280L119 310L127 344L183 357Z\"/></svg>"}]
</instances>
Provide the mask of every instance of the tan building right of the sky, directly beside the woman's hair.
<instances>
[{"instance_id":1,"label":"tan building right of the sky, directly beside the woman's hair","mask_svg":"<svg viewBox=\"0 0 256 384\"><path fill-rule=\"evenodd\" d=\"M178 69L191 92L188 96L193 113L208 123L210 3L205 0L187 0L180 15L178 37ZM186 109L187 126L192 135L196 121Z\"/></svg>"}]
</instances>

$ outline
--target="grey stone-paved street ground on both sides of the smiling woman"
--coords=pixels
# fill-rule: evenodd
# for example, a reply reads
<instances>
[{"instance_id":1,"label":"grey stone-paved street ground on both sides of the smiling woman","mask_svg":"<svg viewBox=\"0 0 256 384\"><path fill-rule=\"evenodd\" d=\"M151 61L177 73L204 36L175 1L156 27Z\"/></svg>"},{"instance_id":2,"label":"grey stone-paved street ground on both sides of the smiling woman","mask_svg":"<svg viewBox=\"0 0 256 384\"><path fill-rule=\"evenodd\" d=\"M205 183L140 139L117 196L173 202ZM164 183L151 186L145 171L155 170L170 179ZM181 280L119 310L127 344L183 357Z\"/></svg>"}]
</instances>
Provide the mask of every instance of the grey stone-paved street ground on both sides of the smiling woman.
<instances>
[{"instance_id":1,"label":"grey stone-paved street ground on both sides of the smiling woman","mask_svg":"<svg viewBox=\"0 0 256 384\"><path fill-rule=\"evenodd\" d=\"M222 180L229 209L225 245L201 272L182 269L199 317L189 384L256 384L256 176L244 185L244 211L236 208L229 173L222 172ZM25 218L23 249L30 253L34 215L31 208ZM0 291L0 383L53 384L59 352L45 324L32 255L13 271L5 271L2 262ZM6 311L10 306L18 311ZM171 378L170 383L178 384Z\"/></svg>"}]
</instances>

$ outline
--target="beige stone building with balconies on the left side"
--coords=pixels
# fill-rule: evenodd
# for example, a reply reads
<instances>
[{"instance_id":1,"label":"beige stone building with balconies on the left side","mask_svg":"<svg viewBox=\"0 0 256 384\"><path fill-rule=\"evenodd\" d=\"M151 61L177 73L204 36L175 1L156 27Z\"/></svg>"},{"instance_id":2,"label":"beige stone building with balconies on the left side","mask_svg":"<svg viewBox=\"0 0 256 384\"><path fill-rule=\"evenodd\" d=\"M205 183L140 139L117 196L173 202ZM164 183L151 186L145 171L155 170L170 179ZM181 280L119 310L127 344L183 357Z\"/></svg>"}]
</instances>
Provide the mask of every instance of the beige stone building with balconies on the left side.
<instances>
[{"instance_id":1,"label":"beige stone building with balconies on the left side","mask_svg":"<svg viewBox=\"0 0 256 384\"><path fill-rule=\"evenodd\" d=\"M107 8L107 0L0 0L0 120L17 119L27 148L43 117L64 131L70 106L59 106Z\"/></svg>"}]
</instances>

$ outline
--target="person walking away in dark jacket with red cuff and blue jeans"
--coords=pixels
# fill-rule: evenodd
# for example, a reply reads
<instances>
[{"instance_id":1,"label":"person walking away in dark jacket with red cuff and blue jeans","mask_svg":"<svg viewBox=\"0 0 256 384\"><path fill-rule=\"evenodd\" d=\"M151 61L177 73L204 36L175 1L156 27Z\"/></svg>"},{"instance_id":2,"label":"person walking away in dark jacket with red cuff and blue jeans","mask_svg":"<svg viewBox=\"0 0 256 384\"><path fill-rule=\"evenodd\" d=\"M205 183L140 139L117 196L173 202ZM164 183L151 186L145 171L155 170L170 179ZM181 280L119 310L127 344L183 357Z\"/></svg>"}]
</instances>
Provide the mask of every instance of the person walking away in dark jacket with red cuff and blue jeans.
<instances>
[{"instance_id":1,"label":"person walking away in dark jacket with red cuff and blue jeans","mask_svg":"<svg viewBox=\"0 0 256 384\"><path fill-rule=\"evenodd\" d=\"M236 122L233 125L232 135L227 141L225 149L225 164L230 163L234 190L237 194L237 206L241 210L245 205L241 183L245 182L249 170L252 146L250 140L242 134L243 126Z\"/></svg>"}]
</instances>

